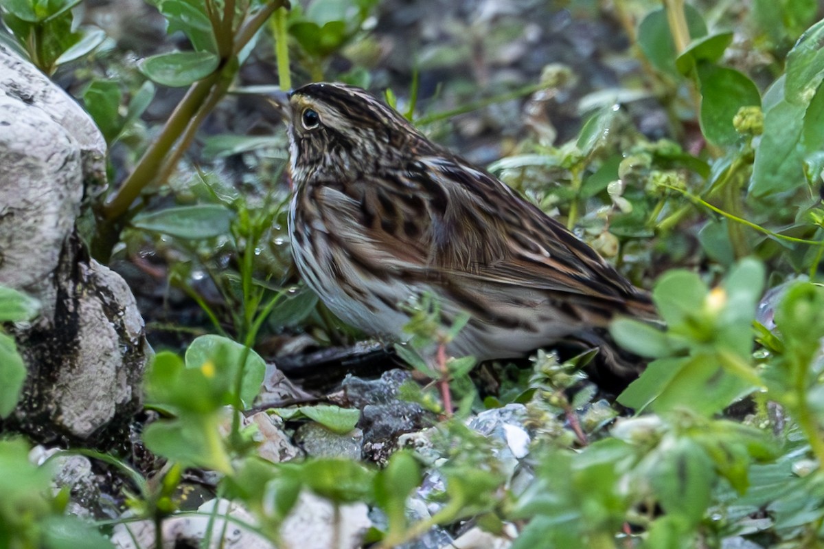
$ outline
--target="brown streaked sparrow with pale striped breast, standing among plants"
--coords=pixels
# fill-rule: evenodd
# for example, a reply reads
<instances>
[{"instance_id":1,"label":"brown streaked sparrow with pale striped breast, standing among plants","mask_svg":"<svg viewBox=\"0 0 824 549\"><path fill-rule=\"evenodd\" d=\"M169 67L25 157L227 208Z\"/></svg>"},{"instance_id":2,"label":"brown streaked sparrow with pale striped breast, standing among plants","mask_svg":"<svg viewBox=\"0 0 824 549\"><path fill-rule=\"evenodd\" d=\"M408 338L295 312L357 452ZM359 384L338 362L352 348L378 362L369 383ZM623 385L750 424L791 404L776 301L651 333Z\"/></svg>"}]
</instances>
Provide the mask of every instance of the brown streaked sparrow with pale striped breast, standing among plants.
<instances>
[{"instance_id":1,"label":"brown streaked sparrow with pale striped breast, standing among plants","mask_svg":"<svg viewBox=\"0 0 824 549\"><path fill-rule=\"evenodd\" d=\"M565 340L620 369L604 327L653 317L652 304L563 225L360 88L308 84L289 109L293 256L338 317L397 338L402 305L428 292L445 325L471 315L452 356L515 358Z\"/></svg>"}]
</instances>

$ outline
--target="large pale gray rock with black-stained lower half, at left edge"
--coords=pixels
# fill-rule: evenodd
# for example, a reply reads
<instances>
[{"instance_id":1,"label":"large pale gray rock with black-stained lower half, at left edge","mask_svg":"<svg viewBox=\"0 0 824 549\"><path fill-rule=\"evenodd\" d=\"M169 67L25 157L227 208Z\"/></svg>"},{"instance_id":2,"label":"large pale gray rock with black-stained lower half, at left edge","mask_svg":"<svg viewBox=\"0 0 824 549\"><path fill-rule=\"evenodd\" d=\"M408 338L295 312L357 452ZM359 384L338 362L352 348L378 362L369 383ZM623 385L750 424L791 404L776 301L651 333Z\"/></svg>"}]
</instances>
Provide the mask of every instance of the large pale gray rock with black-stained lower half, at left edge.
<instances>
[{"instance_id":1,"label":"large pale gray rock with black-stained lower half, at left edge","mask_svg":"<svg viewBox=\"0 0 824 549\"><path fill-rule=\"evenodd\" d=\"M75 233L105 185L105 141L84 110L0 45L0 284L40 300L13 335L29 375L3 428L40 441L123 443L151 350L123 279Z\"/></svg>"}]
</instances>

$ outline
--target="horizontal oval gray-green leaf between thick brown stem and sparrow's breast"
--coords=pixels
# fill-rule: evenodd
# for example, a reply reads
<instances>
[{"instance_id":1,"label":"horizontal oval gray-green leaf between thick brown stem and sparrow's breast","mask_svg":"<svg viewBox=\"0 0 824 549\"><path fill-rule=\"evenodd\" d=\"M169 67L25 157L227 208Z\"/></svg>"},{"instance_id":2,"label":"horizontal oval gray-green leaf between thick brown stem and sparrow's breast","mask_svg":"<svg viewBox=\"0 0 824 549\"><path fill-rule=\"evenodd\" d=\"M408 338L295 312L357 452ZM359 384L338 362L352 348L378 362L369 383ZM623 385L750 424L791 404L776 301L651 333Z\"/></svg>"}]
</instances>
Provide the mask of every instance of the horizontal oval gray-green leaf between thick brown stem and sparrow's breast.
<instances>
[{"instance_id":1,"label":"horizontal oval gray-green leaf between thick brown stem and sparrow's breast","mask_svg":"<svg viewBox=\"0 0 824 549\"><path fill-rule=\"evenodd\" d=\"M132 225L171 237L199 240L228 234L234 217L235 213L221 204L199 204L139 215Z\"/></svg>"}]
</instances>

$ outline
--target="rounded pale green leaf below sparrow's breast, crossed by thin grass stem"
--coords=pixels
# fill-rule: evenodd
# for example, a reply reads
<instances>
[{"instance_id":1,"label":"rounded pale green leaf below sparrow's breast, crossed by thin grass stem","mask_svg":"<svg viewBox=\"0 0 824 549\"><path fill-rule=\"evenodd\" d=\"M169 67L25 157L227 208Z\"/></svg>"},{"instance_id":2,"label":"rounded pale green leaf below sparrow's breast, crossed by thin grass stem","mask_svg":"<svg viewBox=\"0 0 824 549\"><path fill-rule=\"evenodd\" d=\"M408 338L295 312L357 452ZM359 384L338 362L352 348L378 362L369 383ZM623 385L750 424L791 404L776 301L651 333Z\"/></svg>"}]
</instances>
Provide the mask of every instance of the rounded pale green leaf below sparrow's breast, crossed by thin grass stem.
<instances>
[{"instance_id":1,"label":"rounded pale green leaf below sparrow's breast, crossed by thin grass stem","mask_svg":"<svg viewBox=\"0 0 824 549\"><path fill-rule=\"evenodd\" d=\"M203 364L212 362L216 368L231 372L230 378L233 382L236 370L240 367L241 359L246 352L247 350L243 345L227 337L213 334L199 336L192 341L186 350L186 368L200 368ZM240 394L241 401L247 406L255 400L260 392L265 374L265 360L260 358L260 354L249 349L248 354L246 354L246 366L243 370L243 384Z\"/></svg>"}]
</instances>

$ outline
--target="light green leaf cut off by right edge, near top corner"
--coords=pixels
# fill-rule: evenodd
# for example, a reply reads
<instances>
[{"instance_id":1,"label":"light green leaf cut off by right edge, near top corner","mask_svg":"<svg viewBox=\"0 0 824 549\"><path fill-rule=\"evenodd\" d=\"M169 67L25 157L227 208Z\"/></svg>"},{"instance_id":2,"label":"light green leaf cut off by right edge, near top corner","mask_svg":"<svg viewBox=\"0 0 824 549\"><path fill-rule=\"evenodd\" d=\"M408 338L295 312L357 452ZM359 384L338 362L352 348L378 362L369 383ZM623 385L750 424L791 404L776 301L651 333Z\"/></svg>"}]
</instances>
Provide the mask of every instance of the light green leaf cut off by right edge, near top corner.
<instances>
[{"instance_id":1,"label":"light green leaf cut off by right edge, near top corner","mask_svg":"<svg viewBox=\"0 0 824 549\"><path fill-rule=\"evenodd\" d=\"M787 54L787 101L806 106L824 78L824 20L818 21L801 35Z\"/></svg>"}]
</instances>

